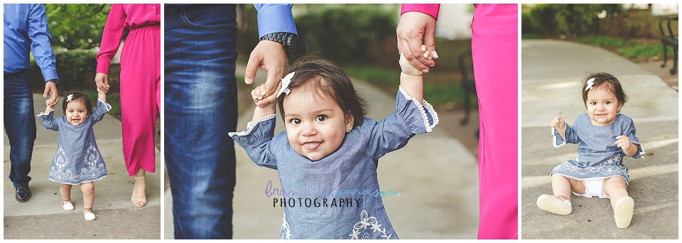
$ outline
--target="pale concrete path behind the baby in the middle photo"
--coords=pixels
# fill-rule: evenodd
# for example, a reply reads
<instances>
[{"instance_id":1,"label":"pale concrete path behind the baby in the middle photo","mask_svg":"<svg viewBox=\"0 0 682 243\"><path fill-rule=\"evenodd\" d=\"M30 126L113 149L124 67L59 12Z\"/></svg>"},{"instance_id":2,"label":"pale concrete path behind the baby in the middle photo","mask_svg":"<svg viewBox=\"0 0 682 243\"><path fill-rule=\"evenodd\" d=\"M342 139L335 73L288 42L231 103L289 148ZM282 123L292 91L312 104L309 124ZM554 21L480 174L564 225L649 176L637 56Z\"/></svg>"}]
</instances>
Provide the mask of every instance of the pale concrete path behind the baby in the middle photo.
<instances>
[{"instance_id":1,"label":"pale concrete path behind the baby in the middle photo","mask_svg":"<svg viewBox=\"0 0 682 243\"><path fill-rule=\"evenodd\" d=\"M238 65L237 76L243 76L244 69L243 65ZM264 82L265 76L264 72L259 72L256 83ZM393 114L395 93L386 94L359 80L354 80L354 86L370 104L368 117L381 120ZM255 107L253 104L240 105L248 105L249 112L239 117L237 131L246 129ZM458 121L440 120L441 124L448 122ZM276 132L283 131L283 127L278 117ZM281 188L277 171L256 166L244 148L235 146L234 239L277 239L283 208L273 207L272 199L264 195L270 180L272 188ZM429 134L414 136L407 146L381 158L377 172L381 190L402 193L399 197L383 198L386 213L399 237L475 239L478 229L477 171L475 156L438 126ZM172 239L172 202L168 189L164 203L164 238Z\"/></svg>"}]
</instances>

